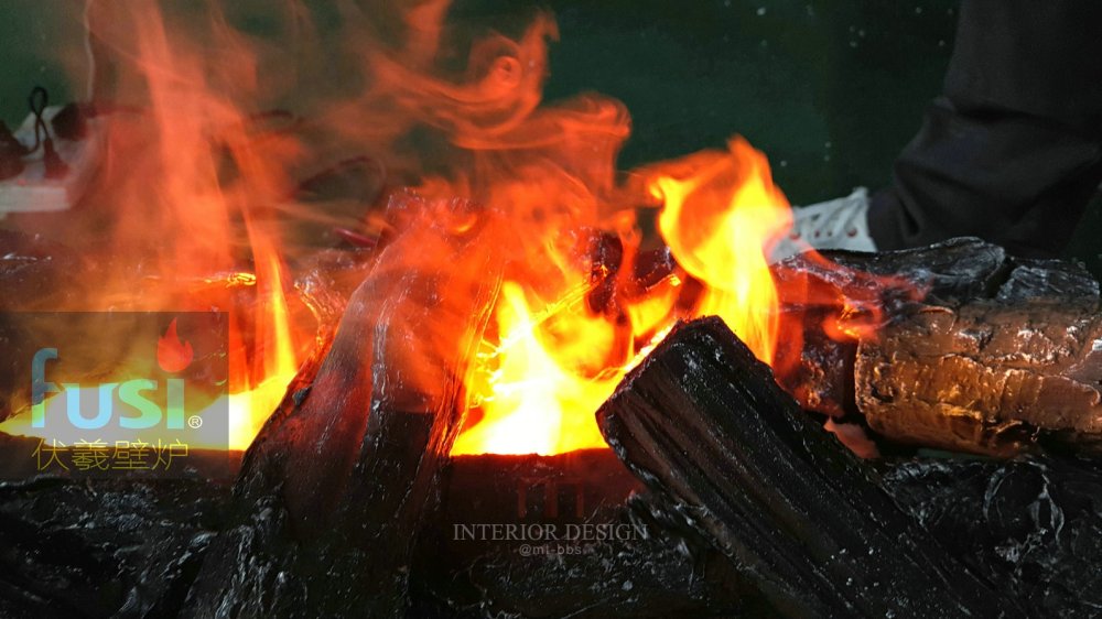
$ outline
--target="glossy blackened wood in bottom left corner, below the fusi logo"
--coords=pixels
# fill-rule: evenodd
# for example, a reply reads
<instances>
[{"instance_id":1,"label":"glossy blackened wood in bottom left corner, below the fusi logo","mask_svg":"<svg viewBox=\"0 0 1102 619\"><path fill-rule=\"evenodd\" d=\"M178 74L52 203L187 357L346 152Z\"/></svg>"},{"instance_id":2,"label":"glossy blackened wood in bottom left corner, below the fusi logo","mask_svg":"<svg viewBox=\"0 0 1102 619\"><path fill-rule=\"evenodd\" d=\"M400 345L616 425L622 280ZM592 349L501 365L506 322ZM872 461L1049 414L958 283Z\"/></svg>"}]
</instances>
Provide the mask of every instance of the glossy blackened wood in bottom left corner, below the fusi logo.
<instances>
[{"instance_id":1,"label":"glossy blackened wood in bottom left corner, below the fusi logo","mask_svg":"<svg viewBox=\"0 0 1102 619\"><path fill-rule=\"evenodd\" d=\"M229 497L208 479L0 481L0 617L176 617Z\"/></svg>"}]
</instances>

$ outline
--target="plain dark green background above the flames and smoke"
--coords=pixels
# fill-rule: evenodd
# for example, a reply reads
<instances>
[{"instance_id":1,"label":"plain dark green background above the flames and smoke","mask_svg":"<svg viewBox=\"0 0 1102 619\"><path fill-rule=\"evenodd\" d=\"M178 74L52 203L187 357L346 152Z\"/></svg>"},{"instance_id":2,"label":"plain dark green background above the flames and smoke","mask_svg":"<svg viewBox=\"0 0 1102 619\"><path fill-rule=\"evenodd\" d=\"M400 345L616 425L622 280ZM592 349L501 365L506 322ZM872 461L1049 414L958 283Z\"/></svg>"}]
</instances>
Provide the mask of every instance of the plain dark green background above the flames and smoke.
<instances>
[{"instance_id":1,"label":"plain dark green background above the flames and smoke","mask_svg":"<svg viewBox=\"0 0 1102 619\"><path fill-rule=\"evenodd\" d=\"M370 0L368 0L370 1ZM324 23L327 0L307 2ZM0 7L0 119L25 115L42 84L55 100L80 96L76 0ZM176 4L174 10L179 10ZM263 33L264 2L236 15ZM270 4L268 4L270 7ZM959 2L919 0L456 0L452 17L508 30L550 10L547 98L595 90L623 100L634 132L622 167L722 146L742 133L769 155L793 204L890 181L895 154L940 91ZM1102 272L1102 214L1092 208L1071 256Z\"/></svg>"}]
</instances>

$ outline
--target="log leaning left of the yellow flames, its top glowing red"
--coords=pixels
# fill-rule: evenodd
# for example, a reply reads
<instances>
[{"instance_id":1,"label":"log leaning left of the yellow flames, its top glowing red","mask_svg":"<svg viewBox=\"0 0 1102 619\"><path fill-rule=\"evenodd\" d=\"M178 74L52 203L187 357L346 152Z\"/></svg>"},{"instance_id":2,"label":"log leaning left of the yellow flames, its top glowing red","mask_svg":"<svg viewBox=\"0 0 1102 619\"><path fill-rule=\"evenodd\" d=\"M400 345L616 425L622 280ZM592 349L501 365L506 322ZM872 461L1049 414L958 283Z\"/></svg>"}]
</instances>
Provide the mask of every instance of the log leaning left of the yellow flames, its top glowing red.
<instances>
[{"instance_id":1,"label":"log leaning left of the yellow flames, its top glowing red","mask_svg":"<svg viewBox=\"0 0 1102 619\"><path fill-rule=\"evenodd\" d=\"M295 380L246 454L241 522L212 551L191 616L389 619L409 607L412 553L462 421L464 363L500 285L500 257L480 235L500 221L412 195L389 215L402 232L316 373Z\"/></svg>"}]
</instances>

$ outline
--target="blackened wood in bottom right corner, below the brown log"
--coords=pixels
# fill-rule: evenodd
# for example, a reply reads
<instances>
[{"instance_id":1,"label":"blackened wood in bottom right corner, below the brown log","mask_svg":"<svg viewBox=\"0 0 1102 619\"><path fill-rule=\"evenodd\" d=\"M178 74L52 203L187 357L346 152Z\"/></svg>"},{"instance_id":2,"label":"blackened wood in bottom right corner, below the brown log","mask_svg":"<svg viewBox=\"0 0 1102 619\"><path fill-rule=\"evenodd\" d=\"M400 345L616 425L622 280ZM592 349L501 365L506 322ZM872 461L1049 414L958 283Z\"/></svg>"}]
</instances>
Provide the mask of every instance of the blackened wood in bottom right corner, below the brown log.
<instances>
[{"instance_id":1,"label":"blackened wood in bottom right corner, below the brown log","mask_svg":"<svg viewBox=\"0 0 1102 619\"><path fill-rule=\"evenodd\" d=\"M1034 617L1102 608L1102 469L1026 456L890 464L892 496Z\"/></svg>"}]
</instances>

